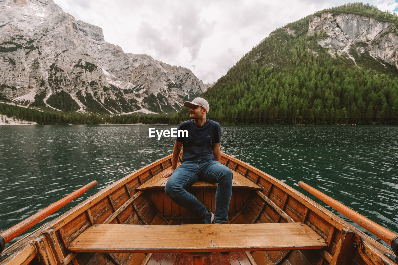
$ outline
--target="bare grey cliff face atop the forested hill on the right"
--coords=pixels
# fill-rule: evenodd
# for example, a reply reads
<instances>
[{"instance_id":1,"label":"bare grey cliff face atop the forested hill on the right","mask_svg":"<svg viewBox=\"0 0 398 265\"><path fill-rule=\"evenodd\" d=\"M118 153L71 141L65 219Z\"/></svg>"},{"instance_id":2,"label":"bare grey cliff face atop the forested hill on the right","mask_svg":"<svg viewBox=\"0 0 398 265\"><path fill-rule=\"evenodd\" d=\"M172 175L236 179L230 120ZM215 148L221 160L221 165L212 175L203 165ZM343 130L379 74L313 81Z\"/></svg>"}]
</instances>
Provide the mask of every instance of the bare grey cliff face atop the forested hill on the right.
<instances>
[{"instance_id":1,"label":"bare grey cliff face atop the forested hill on the right","mask_svg":"<svg viewBox=\"0 0 398 265\"><path fill-rule=\"evenodd\" d=\"M332 14L322 12L312 16L308 35L324 34L318 44L331 54L347 55L351 49L365 52L376 60L387 62L398 69L398 34L393 21L378 21L374 18L356 14Z\"/></svg>"}]
</instances>

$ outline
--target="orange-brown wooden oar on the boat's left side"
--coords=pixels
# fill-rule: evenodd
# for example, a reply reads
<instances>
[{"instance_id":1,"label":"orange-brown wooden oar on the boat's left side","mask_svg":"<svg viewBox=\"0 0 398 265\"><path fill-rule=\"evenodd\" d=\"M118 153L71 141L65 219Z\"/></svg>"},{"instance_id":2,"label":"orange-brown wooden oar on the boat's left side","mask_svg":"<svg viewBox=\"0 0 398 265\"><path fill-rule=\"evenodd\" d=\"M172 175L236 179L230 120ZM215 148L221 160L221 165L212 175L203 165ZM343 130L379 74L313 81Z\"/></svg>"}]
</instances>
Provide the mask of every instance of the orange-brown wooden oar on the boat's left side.
<instances>
[{"instance_id":1,"label":"orange-brown wooden oar on the boat's left side","mask_svg":"<svg viewBox=\"0 0 398 265\"><path fill-rule=\"evenodd\" d=\"M70 193L69 195L63 197L59 201L47 206L43 210L33 214L32 216L26 218L25 220L19 222L15 226L8 228L6 231L0 234L0 253L4 250L5 244L34 226L38 224L40 221L47 218L49 215L53 214L55 211L59 210L61 207L65 206L67 203L70 203L95 185L97 185L97 181L94 180L87 185L81 187L80 189Z\"/></svg>"}]
</instances>

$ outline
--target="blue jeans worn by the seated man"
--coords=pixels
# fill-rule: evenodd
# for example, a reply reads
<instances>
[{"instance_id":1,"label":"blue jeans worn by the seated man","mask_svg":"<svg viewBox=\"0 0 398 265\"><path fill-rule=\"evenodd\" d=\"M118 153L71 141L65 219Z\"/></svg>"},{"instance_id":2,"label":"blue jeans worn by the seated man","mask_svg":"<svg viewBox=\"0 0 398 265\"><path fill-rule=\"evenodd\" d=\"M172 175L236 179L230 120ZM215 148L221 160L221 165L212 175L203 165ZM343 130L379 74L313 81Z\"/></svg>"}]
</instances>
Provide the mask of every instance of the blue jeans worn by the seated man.
<instances>
[{"instance_id":1,"label":"blue jeans worn by the seated man","mask_svg":"<svg viewBox=\"0 0 398 265\"><path fill-rule=\"evenodd\" d=\"M232 171L219 161L185 161L173 171L164 191L179 206L203 218L209 210L186 189L191 187L196 181L218 183L214 222L215 224L224 224L228 221L228 208L232 195L232 177Z\"/></svg>"}]
</instances>

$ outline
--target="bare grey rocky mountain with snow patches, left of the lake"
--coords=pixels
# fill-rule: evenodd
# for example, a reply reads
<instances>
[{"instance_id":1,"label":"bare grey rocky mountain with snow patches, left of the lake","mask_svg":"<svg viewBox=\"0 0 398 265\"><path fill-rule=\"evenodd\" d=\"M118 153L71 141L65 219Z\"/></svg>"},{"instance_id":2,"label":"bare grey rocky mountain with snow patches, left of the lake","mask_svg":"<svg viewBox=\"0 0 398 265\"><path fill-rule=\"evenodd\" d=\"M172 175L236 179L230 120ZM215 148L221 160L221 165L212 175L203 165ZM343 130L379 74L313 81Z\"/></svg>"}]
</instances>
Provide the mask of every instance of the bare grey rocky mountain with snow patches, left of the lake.
<instances>
[{"instance_id":1,"label":"bare grey rocky mountain with snow patches, left of the lake","mask_svg":"<svg viewBox=\"0 0 398 265\"><path fill-rule=\"evenodd\" d=\"M210 86L124 53L51 0L0 0L0 58L0 99L63 111L169 113Z\"/></svg>"}]
</instances>

